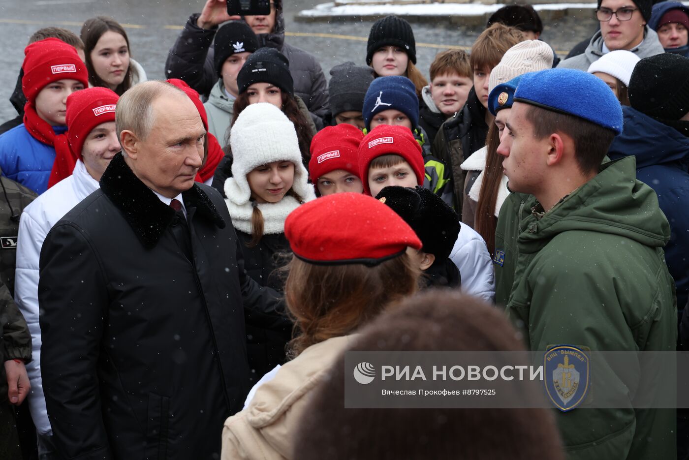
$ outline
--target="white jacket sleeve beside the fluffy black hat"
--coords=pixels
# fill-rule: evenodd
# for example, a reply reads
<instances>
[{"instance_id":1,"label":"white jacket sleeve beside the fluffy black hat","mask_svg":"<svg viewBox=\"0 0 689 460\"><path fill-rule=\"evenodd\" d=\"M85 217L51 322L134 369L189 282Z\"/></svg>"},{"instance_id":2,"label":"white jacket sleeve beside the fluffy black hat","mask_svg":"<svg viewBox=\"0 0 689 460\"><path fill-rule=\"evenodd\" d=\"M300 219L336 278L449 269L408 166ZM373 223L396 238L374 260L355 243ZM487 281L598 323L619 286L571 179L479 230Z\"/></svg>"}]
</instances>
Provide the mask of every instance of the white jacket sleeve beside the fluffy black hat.
<instances>
[{"instance_id":1,"label":"white jacket sleeve beside the fluffy black hat","mask_svg":"<svg viewBox=\"0 0 689 460\"><path fill-rule=\"evenodd\" d=\"M468 225L462 225L450 258L460 270L462 292L488 302L495 300L495 273L491 255L483 238Z\"/></svg>"}]
</instances>

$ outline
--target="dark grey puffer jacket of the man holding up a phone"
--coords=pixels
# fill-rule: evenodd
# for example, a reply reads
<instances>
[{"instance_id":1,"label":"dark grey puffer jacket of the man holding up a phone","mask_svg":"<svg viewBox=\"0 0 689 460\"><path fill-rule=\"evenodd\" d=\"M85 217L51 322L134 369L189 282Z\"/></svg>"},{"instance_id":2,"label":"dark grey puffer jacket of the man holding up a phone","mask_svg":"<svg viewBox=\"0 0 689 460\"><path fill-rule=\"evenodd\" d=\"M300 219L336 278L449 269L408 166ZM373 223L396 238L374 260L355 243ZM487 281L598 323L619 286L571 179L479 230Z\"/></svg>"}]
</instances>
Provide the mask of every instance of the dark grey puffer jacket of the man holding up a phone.
<instances>
[{"instance_id":1,"label":"dark grey puffer jacket of the man holding up a phone","mask_svg":"<svg viewBox=\"0 0 689 460\"><path fill-rule=\"evenodd\" d=\"M165 76L181 79L199 94L207 96L218 81L213 65L214 50L211 46L218 28L204 30L198 25L198 13L194 13L177 37L167 54ZM294 79L294 94L309 107L314 123L322 127L322 118L330 109L328 84L320 64L312 54L285 43L285 19L278 10L274 32L259 34L262 46L275 48L289 60L289 72Z\"/></svg>"}]
</instances>

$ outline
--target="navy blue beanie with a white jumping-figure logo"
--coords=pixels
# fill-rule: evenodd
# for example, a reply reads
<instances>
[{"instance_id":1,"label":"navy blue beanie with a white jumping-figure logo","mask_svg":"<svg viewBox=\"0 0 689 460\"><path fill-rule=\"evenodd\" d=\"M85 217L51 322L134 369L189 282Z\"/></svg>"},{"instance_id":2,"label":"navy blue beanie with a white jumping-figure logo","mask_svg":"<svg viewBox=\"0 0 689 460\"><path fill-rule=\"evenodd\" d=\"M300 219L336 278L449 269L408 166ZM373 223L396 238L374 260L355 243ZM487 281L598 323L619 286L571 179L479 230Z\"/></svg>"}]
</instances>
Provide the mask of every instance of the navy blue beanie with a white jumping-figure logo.
<instances>
[{"instance_id":1,"label":"navy blue beanie with a white jumping-figure logo","mask_svg":"<svg viewBox=\"0 0 689 460\"><path fill-rule=\"evenodd\" d=\"M419 98L416 87L406 76L379 76L364 96L364 123L371 129L371 119L383 110L399 110L411 120L412 131L419 125Z\"/></svg>"}]
</instances>

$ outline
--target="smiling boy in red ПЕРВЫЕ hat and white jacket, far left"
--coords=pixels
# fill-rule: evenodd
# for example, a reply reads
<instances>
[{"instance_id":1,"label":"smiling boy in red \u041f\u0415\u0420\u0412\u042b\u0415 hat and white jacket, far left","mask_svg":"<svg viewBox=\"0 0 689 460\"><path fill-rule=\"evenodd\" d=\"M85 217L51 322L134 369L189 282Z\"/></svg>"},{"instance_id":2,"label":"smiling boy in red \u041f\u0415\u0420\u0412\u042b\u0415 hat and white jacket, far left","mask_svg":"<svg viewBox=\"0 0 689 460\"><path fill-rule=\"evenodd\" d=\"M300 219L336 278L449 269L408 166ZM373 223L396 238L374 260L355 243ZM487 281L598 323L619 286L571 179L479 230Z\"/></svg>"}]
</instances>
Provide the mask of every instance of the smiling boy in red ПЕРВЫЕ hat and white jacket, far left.
<instances>
[{"instance_id":1,"label":"smiling boy in red \u041f\u0415\u0420\u0412\u042b\u0415 hat and white jacket, far left","mask_svg":"<svg viewBox=\"0 0 689 460\"><path fill-rule=\"evenodd\" d=\"M99 189L99 179L112 157L120 151L115 131L115 108L119 96L104 87L78 91L67 98L65 134L55 138L52 187L25 207L19 221L17 271L14 298L31 332L34 357L41 353L39 326L39 258L43 240L52 226L81 200ZM40 359L27 364L32 383L29 396L31 418L37 429L39 452L50 452L50 421L45 410Z\"/></svg>"}]
</instances>

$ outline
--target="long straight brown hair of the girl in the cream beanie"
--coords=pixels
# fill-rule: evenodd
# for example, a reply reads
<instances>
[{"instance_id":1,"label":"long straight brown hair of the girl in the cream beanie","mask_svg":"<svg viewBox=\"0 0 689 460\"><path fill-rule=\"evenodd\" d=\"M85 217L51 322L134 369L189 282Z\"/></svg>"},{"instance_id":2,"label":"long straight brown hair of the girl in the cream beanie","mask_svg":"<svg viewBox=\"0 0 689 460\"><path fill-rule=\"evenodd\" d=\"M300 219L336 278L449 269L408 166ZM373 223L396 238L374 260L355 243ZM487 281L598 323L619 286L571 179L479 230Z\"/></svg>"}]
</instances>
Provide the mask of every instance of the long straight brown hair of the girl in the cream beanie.
<instances>
[{"instance_id":1,"label":"long straight brown hair of the girl in the cream beanie","mask_svg":"<svg viewBox=\"0 0 689 460\"><path fill-rule=\"evenodd\" d=\"M483 182L476 205L475 230L483 237L491 257L495 252L495 201L502 181L502 157L497 154L500 145L500 132L495 123L491 123L486 136L486 167L483 170Z\"/></svg>"}]
</instances>

